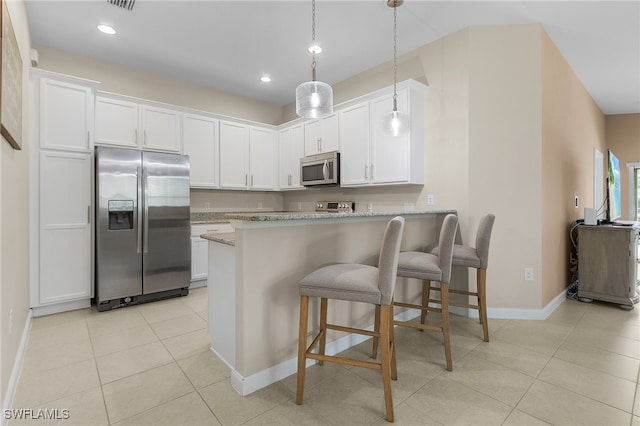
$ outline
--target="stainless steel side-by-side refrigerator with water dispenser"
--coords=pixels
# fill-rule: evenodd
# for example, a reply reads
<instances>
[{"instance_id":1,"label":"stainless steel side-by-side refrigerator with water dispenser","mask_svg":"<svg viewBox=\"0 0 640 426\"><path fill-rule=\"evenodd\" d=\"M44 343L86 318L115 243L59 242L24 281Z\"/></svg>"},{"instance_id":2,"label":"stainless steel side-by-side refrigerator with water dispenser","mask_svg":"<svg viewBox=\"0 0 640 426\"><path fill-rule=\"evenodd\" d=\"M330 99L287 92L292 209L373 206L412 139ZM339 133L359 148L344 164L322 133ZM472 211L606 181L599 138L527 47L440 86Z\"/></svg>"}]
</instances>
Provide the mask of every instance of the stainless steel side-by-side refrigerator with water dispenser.
<instances>
[{"instance_id":1,"label":"stainless steel side-by-side refrigerator with water dispenser","mask_svg":"<svg viewBox=\"0 0 640 426\"><path fill-rule=\"evenodd\" d=\"M189 158L109 147L95 158L98 310L187 295Z\"/></svg>"}]
</instances>

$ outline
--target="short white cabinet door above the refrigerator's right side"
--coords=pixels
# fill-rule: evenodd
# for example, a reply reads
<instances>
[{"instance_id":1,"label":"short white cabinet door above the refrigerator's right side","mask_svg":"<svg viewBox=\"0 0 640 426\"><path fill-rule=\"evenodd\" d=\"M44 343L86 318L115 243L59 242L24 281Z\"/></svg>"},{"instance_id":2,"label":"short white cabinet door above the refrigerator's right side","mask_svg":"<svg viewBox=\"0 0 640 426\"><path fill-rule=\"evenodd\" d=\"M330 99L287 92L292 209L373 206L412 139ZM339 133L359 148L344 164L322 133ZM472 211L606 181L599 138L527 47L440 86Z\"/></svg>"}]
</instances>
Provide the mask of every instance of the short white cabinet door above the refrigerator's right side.
<instances>
[{"instance_id":1,"label":"short white cabinet door above the refrigerator's right side","mask_svg":"<svg viewBox=\"0 0 640 426\"><path fill-rule=\"evenodd\" d=\"M154 106L141 106L142 147L155 151L181 151L180 113Z\"/></svg>"}]
</instances>

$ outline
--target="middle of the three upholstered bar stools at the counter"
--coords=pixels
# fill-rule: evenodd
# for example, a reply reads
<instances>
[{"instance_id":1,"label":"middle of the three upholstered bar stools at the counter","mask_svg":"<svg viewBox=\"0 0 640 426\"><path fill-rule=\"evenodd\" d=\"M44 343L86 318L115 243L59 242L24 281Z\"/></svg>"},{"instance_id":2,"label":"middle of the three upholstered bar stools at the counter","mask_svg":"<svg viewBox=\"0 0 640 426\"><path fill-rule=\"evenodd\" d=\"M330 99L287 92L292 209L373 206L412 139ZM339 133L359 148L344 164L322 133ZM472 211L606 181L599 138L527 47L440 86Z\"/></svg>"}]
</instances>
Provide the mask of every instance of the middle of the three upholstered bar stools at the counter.
<instances>
[{"instance_id":1,"label":"middle of the three upholstered bar stools at the counter","mask_svg":"<svg viewBox=\"0 0 640 426\"><path fill-rule=\"evenodd\" d=\"M394 306L419 309L421 311L420 323L408 321L395 321L395 325L442 332L444 339L444 353L447 362L447 370L453 369L451 361L451 341L449 337L449 279L451 278L451 262L453 245L458 228L458 217L448 214L442 222L440 237L438 239L438 254L420 251L405 251L398 256L398 276L405 278L417 278L422 280L422 303L404 303L394 301ZM429 289L431 282L440 283L440 308L429 306ZM442 325L425 324L427 311L440 312Z\"/></svg>"}]
</instances>

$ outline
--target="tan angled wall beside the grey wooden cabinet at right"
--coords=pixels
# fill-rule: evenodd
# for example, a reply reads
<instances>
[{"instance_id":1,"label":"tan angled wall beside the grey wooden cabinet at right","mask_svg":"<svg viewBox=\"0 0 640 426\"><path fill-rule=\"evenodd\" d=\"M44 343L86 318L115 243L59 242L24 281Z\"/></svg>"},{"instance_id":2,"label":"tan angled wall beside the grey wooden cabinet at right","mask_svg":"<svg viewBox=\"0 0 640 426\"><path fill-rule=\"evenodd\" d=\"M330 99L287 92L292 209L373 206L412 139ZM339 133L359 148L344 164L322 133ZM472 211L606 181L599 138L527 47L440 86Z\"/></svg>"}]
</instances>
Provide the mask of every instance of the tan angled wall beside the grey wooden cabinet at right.
<instances>
[{"instance_id":1,"label":"tan angled wall beside the grey wooden cabinet at right","mask_svg":"<svg viewBox=\"0 0 640 426\"><path fill-rule=\"evenodd\" d=\"M569 225L593 207L593 153L605 152L606 143L604 115L545 32L542 58L544 305L570 282Z\"/></svg>"}]
</instances>

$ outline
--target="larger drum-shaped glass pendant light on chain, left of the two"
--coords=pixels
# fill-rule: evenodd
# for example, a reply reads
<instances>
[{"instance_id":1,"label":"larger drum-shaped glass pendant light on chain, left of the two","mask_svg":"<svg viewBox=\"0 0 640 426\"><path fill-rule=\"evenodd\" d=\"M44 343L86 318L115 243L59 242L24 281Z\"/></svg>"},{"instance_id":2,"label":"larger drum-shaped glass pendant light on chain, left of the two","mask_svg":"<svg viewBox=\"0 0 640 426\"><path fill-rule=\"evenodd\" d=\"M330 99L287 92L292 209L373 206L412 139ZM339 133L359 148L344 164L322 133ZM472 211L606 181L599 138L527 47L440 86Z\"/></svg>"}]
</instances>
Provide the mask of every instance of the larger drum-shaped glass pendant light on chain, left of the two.
<instances>
[{"instance_id":1,"label":"larger drum-shaped glass pendant light on chain, left of the two","mask_svg":"<svg viewBox=\"0 0 640 426\"><path fill-rule=\"evenodd\" d=\"M327 83L316 81L316 1L311 0L311 81L296 88L296 113L305 118L322 117L333 112L333 89Z\"/></svg>"}]
</instances>

